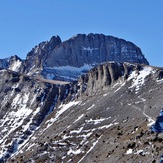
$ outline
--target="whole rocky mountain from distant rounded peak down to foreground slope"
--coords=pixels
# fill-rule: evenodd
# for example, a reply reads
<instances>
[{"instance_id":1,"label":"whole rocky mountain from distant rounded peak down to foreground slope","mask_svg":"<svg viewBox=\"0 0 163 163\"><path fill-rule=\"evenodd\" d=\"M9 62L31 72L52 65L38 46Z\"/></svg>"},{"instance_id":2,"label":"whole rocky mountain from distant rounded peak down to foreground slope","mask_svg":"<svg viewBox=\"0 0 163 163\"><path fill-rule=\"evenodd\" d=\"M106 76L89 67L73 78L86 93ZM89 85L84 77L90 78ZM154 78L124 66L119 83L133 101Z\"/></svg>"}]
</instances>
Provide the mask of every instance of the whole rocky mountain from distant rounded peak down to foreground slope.
<instances>
[{"instance_id":1,"label":"whole rocky mountain from distant rounded peak down to foreground slope","mask_svg":"<svg viewBox=\"0 0 163 163\"><path fill-rule=\"evenodd\" d=\"M103 38L116 42L115 61L90 51ZM122 47L127 52L116 53ZM0 162L159 162L163 134L152 129L162 126L163 68L148 65L133 43L56 36L7 63L0 69Z\"/></svg>"}]
</instances>

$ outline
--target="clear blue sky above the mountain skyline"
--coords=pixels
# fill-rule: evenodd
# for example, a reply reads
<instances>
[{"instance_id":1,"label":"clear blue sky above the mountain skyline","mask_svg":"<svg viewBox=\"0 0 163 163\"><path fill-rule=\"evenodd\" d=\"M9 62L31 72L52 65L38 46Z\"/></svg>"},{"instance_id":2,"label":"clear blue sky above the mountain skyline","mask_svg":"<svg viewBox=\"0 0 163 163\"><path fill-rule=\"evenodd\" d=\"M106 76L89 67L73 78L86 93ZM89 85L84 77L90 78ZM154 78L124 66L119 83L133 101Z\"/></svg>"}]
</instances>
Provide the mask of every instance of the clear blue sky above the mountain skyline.
<instances>
[{"instance_id":1,"label":"clear blue sky above the mountain skyline","mask_svg":"<svg viewBox=\"0 0 163 163\"><path fill-rule=\"evenodd\" d=\"M3 0L0 58L26 54L59 35L103 33L142 49L151 65L163 67L163 0Z\"/></svg>"}]
</instances>

